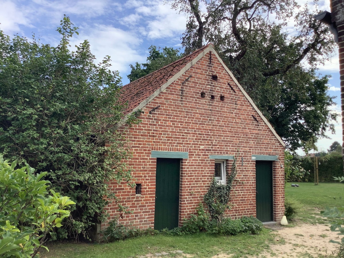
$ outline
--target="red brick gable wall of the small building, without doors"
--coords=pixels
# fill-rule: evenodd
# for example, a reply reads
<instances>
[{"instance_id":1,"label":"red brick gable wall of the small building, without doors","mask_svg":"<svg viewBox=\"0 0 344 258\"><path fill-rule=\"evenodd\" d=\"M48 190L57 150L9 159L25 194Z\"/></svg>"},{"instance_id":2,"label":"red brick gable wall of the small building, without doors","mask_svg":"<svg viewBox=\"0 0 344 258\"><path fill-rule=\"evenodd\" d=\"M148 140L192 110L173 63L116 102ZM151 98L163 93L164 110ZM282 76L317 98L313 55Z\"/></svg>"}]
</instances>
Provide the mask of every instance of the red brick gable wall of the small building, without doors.
<instances>
[{"instance_id":1,"label":"red brick gable wall of the small building, without doors","mask_svg":"<svg viewBox=\"0 0 344 258\"><path fill-rule=\"evenodd\" d=\"M218 76L217 81L212 79L212 74ZM201 92L205 92L204 98ZM211 95L215 99L211 99ZM220 96L225 96L224 101ZM280 168L284 161L284 147L214 54L211 65L208 53L148 103L143 111L140 116L142 122L127 133L133 153L127 163L135 170L136 183L142 184L142 196L136 196L135 189L110 183L113 191L121 196L122 204L133 212L123 215L120 223L132 223L140 228L154 227L157 159L151 158L152 150L189 153L188 159L181 160L180 225L183 218L195 212L208 190L214 175L214 159L209 159L209 155L238 154L238 175L230 201L234 207L228 212L233 218L256 215L255 161L252 155L278 155L279 160L273 162L273 216L275 221L280 221L284 215L284 169ZM232 161L227 164L230 171ZM119 215L116 204L109 205L106 210L110 220Z\"/></svg>"}]
</instances>

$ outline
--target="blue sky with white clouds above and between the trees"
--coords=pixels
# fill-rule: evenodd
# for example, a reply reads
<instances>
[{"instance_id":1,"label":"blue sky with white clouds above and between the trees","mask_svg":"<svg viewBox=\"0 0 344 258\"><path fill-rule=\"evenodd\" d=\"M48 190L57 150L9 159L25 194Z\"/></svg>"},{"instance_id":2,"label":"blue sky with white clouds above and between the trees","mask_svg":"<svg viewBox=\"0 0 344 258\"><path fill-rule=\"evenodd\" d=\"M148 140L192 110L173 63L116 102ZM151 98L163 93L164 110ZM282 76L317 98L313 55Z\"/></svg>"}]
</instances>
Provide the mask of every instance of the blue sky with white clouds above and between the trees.
<instances>
[{"instance_id":1,"label":"blue sky with white clouds above and between the trees","mask_svg":"<svg viewBox=\"0 0 344 258\"><path fill-rule=\"evenodd\" d=\"M307 0L298 2L306 4ZM330 11L329 6L330 0L319 1L320 10ZM315 7L310 3L309 8ZM1 0L0 29L10 36L18 33L31 38L34 33L42 43L57 45L60 35L55 30L64 14L79 27L79 36L73 36L71 45L87 39L97 61L111 56L112 68L119 71L123 85L129 82L129 65L146 62L151 45L181 47L187 20L162 0ZM287 30L292 33L295 28L290 24ZM329 94L336 96L337 103L332 109L341 114L338 49L333 55L319 66L319 73L332 75ZM340 121L335 123L336 134L328 134L331 139L318 141L319 150L326 151L333 141L342 142Z\"/></svg>"}]
</instances>

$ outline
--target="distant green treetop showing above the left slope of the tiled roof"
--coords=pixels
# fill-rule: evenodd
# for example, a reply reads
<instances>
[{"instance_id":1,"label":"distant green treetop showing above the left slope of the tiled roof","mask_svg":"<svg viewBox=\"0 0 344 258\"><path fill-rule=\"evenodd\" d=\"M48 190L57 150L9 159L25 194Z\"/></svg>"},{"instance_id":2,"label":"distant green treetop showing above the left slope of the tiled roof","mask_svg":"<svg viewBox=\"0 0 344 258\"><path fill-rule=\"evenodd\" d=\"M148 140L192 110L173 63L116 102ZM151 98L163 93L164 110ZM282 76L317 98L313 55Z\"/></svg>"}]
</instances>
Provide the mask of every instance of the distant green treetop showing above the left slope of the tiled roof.
<instances>
[{"instance_id":1,"label":"distant green treetop showing above the left slope of the tiled roof","mask_svg":"<svg viewBox=\"0 0 344 258\"><path fill-rule=\"evenodd\" d=\"M149 47L149 56L147 57L147 63L139 64L136 62L135 66L130 65L131 72L127 76L130 82L137 80L147 74L150 74L161 67L168 65L174 61L181 58L178 49L173 49L172 47L159 47L156 46Z\"/></svg>"}]
</instances>

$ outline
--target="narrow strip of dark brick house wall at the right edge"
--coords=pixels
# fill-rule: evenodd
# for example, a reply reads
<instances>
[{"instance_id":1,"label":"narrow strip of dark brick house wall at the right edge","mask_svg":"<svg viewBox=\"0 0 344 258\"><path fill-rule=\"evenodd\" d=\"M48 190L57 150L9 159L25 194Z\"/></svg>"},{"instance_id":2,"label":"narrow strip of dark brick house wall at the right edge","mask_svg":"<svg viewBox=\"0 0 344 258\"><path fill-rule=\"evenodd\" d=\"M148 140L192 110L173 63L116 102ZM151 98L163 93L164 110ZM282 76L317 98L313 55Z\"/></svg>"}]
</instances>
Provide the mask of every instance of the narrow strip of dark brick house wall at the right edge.
<instances>
[{"instance_id":1,"label":"narrow strip of dark brick house wall at the right edge","mask_svg":"<svg viewBox=\"0 0 344 258\"><path fill-rule=\"evenodd\" d=\"M343 130L343 155L344 155L344 2L343 0L331 0L331 18L336 23L339 46L339 69L341 79L342 102L342 130Z\"/></svg>"}]
</instances>

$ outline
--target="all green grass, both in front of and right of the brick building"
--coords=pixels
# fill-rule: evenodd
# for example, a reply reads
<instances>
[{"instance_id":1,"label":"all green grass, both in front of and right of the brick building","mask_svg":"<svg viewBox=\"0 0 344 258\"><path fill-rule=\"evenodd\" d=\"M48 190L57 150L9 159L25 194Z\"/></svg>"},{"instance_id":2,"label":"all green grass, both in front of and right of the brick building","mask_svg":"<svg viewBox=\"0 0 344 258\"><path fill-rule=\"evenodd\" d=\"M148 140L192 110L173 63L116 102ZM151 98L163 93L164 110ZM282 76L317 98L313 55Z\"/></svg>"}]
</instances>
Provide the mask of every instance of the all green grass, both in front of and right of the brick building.
<instances>
[{"instance_id":1,"label":"all green grass, both in front of and right of the brick building","mask_svg":"<svg viewBox=\"0 0 344 258\"><path fill-rule=\"evenodd\" d=\"M298 223L326 223L326 219L319 216L319 211L326 206L344 206L344 184L340 183L298 183L300 187L286 185L286 196L293 198L300 204L299 213L292 224ZM268 229L259 235L242 234L238 236L211 236L205 233L186 236L148 236L127 239L110 244L68 243L57 242L48 245L50 252L42 250L42 257L138 257L140 255L155 254L182 250L184 254L202 258L212 257L219 253L234 254L231 257L257 256L269 248L273 237ZM173 257L170 255L169 257Z\"/></svg>"}]
</instances>

